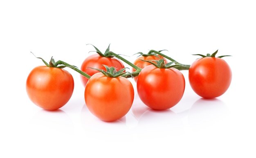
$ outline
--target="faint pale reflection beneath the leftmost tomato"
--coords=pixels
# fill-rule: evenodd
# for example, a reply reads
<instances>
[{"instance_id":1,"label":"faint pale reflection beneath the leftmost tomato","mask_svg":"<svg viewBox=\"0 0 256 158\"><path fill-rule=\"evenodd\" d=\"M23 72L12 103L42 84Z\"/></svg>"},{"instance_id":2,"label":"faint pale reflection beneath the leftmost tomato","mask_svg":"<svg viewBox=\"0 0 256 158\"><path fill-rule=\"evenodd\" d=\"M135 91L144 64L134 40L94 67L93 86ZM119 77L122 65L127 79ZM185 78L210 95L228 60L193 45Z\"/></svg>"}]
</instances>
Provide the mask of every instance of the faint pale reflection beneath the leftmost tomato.
<instances>
[{"instance_id":1,"label":"faint pale reflection beneath the leftmost tomato","mask_svg":"<svg viewBox=\"0 0 256 158\"><path fill-rule=\"evenodd\" d=\"M74 132L72 120L67 113L60 109L54 111L45 109L39 110L31 118L31 125L35 130L44 131L45 133Z\"/></svg>"}]
</instances>

